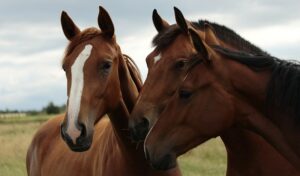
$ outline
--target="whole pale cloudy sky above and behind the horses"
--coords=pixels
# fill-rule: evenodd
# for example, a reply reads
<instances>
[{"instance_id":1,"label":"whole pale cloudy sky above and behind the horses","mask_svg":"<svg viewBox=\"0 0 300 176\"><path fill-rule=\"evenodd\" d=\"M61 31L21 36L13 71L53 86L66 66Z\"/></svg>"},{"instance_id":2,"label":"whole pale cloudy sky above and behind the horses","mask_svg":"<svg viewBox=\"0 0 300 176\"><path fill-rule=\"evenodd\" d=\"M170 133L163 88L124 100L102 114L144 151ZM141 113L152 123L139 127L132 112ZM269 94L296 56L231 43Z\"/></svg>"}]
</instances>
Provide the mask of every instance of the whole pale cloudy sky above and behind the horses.
<instances>
[{"instance_id":1,"label":"whole pale cloudy sky above and behind the horses","mask_svg":"<svg viewBox=\"0 0 300 176\"><path fill-rule=\"evenodd\" d=\"M154 8L174 23L173 6L189 20L208 19L283 59L300 59L299 0L1 0L0 110L40 109L49 101L66 102L66 79L60 63L67 45L60 26L62 10L84 29L97 26L98 6L110 13L123 53L138 64L156 34Z\"/></svg>"}]
</instances>

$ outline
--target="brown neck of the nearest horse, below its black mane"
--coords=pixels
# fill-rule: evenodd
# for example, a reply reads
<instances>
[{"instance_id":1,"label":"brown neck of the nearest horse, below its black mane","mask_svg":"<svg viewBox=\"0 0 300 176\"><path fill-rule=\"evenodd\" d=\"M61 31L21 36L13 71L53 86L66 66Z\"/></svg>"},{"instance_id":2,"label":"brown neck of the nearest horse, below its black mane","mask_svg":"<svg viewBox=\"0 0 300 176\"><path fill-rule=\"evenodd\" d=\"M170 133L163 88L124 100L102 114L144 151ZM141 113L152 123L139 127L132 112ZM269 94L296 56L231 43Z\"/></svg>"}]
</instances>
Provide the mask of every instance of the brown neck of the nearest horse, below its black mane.
<instances>
[{"instance_id":1,"label":"brown neck of the nearest horse, below its black mane","mask_svg":"<svg viewBox=\"0 0 300 176\"><path fill-rule=\"evenodd\" d=\"M235 114L236 125L262 136L300 170L300 154L297 153L296 147L291 145L291 138L288 138L290 135L284 130L284 128L287 131L291 130L286 128L285 118L281 116L282 123L276 124L275 117L270 116L265 108L267 86L271 79L271 72L255 72L240 63L229 59L225 60L225 62L231 62L226 66L234 87L232 94L237 110Z\"/></svg>"}]
</instances>

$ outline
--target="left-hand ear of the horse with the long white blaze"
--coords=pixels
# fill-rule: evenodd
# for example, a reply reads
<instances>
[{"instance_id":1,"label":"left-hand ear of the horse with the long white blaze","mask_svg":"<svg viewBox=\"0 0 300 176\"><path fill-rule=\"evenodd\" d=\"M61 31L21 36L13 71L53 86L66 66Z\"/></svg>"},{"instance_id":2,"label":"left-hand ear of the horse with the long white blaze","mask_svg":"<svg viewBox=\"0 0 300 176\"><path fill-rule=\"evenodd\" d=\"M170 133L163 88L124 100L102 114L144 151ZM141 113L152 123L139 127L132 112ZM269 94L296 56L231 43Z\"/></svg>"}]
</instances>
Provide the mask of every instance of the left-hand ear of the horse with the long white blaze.
<instances>
[{"instance_id":1,"label":"left-hand ear of the horse with the long white blaze","mask_svg":"<svg viewBox=\"0 0 300 176\"><path fill-rule=\"evenodd\" d=\"M76 35L80 33L80 29L76 26L76 24L72 21L72 19L65 11L61 12L60 22L64 34L68 40L72 40Z\"/></svg>"}]
</instances>

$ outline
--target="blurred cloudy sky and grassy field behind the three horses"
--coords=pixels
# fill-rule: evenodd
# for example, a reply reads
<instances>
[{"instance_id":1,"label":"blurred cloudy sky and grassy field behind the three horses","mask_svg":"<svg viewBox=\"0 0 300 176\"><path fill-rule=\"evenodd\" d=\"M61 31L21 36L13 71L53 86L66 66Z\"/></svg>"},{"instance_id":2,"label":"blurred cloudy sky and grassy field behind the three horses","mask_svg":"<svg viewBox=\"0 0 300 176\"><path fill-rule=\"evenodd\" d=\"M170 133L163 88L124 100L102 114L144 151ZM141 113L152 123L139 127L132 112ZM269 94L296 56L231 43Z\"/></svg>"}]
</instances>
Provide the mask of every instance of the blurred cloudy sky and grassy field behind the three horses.
<instances>
[{"instance_id":1,"label":"blurred cloudy sky and grassy field behind the three horses","mask_svg":"<svg viewBox=\"0 0 300 176\"><path fill-rule=\"evenodd\" d=\"M36 129L63 113L66 79L61 60L68 43L60 25L65 10L81 29L97 27L98 6L110 14L123 53L147 75L145 58L156 34L152 11L174 23L173 6L186 19L223 24L281 59L300 59L298 0L72 0L0 1L0 176L26 175L25 153ZM224 175L226 154L213 140L181 159L185 175Z\"/></svg>"}]
</instances>

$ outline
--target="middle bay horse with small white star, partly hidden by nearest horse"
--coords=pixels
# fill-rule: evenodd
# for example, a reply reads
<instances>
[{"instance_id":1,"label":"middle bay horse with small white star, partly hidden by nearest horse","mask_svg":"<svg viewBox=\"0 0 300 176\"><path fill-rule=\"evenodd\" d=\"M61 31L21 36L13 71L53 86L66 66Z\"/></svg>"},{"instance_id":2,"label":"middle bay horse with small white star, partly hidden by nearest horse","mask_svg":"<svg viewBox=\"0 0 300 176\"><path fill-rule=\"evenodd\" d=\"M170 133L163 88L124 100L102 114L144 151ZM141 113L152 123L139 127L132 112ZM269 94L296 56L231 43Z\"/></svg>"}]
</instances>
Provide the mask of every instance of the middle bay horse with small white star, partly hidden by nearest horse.
<instances>
[{"instance_id":1,"label":"middle bay horse with small white star, partly hidden by nearest horse","mask_svg":"<svg viewBox=\"0 0 300 176\"><path fill-rule=\"evenodd\" d=\"M136 141L146 137L149 128L160 117L195 60L192 58L197 55L197 50L190 39L188 28L196 30L197 34L209 44L253 55L268 56L266 52L225 26L209 21L188 22L177 8L175 8L175 18L176 24L169 25L156 10L153 11L153 23L158 31L153 40L156 48L147 56L148 75L130 118L132 137ZM177 108L176 112L182 111L182 108ZM197 114L197 112L193 113ZM168 116L164 118L170 121L177 120L176 115L165 114L165 116ZM169 131L169 133L173 132ZM228 176L280 176L282 173L300 175L270 144L249 130L232 126L218 135L221 136L227 151ZM183 135L181 137L184 138ZM159 145L159 141L155 143ZM161 165L155 166L162 167Z\"/></svg>"}]
</instances>

